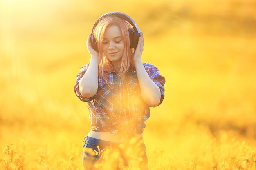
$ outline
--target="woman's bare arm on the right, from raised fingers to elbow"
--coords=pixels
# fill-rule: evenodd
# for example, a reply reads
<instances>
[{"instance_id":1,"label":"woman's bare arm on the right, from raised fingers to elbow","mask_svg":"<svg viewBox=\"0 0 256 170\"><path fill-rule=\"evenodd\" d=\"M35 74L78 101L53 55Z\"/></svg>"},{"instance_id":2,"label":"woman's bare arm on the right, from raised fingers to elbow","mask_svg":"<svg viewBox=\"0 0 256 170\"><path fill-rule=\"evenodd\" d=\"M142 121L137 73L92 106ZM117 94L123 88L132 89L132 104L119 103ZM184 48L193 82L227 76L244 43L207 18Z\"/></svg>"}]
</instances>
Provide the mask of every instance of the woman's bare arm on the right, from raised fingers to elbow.
<instances>
[{"instance_id":1,"label":"woman's bare arm on the right, from raised fingers to elbow","mask_svg":"<svg viewBox=\"0 0 256 170\"><path fill-rule=\"evenodd\" d=\"M141 33L138 46L133 56L133 63L136 68L139 86L141 89L141 97L149 106L157 106L160 103L161 92L159 87L150 79L141 61L141 55L144 46L144 38Z\"/></svg>"}]
</instances>

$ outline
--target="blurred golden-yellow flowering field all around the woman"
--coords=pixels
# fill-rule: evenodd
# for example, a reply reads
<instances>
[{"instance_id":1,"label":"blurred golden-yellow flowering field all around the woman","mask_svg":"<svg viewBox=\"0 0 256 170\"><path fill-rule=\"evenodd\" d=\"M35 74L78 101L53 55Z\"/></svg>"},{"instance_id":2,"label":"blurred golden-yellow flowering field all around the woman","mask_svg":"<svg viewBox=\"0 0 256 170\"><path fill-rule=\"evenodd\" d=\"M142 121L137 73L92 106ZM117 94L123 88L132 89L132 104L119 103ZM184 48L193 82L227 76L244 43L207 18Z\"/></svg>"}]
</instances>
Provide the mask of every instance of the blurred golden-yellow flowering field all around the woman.
<instances>
[{"instance_id":1,"label":"blurred golden-yellow flowering field all around the woman","mask_svg":"<svg viewBox=\"0 0 256 170\"><path fill-rule=\"evenodd\" d=\"M100 5L100 6L98 6ZM152 170L256 170L254 0L1 0L0 169L81 170L73 87L103 13L130 15L166 77L144 140Z\"/></svg>"}]
</instances>

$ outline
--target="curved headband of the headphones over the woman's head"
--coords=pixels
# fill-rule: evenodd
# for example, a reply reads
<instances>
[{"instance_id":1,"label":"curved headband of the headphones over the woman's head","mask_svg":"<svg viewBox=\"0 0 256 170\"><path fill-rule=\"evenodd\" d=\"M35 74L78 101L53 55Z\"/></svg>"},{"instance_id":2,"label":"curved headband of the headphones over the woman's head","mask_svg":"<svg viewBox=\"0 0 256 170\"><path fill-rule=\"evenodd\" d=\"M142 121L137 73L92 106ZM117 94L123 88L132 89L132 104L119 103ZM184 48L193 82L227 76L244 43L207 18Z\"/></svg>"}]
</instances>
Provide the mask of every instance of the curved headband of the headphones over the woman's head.
<instances>
[{"instance_id":1,"label":"curved headband of the headphones over the woman's head","mask_svg":"<svg viewBox=\"0 0 256 170\"><path fill-rule=\"evenodd\" d=\"M97 26L97 24L99 23L99 21L102 19L102 18L105 18L106 16L115 16L115 17L118 17L118 18L122 18L126 21L128 21L133 29L135 29L138 33L141 33L139 27L137 26L137 24L135 23L134 20L132 20L132 18L130 18L129 15L126 15L125 13L121 13L121 12L109 12L109 13L105 13L103 15L101 15L97 20L96 22L94 23L93 27L92 27L92 34L93 34L93 31L94 31L94 28Z\"/></svg>"}]
</instances>

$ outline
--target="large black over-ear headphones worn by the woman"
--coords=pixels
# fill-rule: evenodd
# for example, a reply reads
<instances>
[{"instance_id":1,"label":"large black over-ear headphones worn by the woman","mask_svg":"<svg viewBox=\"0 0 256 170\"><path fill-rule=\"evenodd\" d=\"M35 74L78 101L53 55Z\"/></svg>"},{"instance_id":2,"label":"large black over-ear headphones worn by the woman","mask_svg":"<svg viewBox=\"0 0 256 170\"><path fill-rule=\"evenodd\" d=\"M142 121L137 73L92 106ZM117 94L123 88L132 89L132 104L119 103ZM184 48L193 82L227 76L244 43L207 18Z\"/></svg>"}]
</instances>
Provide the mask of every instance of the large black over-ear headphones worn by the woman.
<instances>
[{"instance_id":1,"label":"large black over-ear headphones worn by the woman","mask_svg":"<svg viewBox=\"0 0 256 170\"><path fill-rule=\"evenodd\" d=\"M104 15L102 15L100 18L98 18L98 20L94 23L93 27L92 27L92 33L90 36L90 42L92 45L92 48L95 51L99 51L98 50L98 46L97 46L97 41L93 35L94 29L97 26L97 24L99 23L99 20L101 20L102 18L106 17L106 16L115 16L121 19L124 19L126 21L128 21L131 25L132 28L129 28L129 37L130 37L130 47L135 48L138 45L138 40L139 40L139 33L141 33L139 27L135 24L135 21L132 20L132 18L130 18L128 15L126 15L125 13L121 13L121 12L109 12L109 13L105 13Z\"/></svg>"}]
</instances>

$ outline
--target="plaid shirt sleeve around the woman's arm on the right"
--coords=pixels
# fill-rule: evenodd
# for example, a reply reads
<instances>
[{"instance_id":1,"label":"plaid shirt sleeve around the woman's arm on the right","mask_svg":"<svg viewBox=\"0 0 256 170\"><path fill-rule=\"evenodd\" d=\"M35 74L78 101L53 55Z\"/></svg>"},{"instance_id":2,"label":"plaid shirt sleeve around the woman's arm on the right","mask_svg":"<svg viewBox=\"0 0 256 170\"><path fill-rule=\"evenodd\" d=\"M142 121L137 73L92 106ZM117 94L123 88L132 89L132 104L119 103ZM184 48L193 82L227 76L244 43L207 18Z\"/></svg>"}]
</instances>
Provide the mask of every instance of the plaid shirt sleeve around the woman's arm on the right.
<instances>
[{"instance_id":1,"label":"plaid shirt sleeve around the woman's arm on the right","mask_svg":"<svg viewBox=\"0 0 256 170\"><path fill-rule=\"evenodd\" d=\"M159 73L159 69L154 66L153 64L144 63L144 68L146 72L148 73L149 77L152 79L152 81L159 87L160 93L161 93L161 99L160 104L162 104L164 100L164 84L165 84L165 78ZM157 105L157 106L159 106Z\"/></svg>"}]
</instances>

